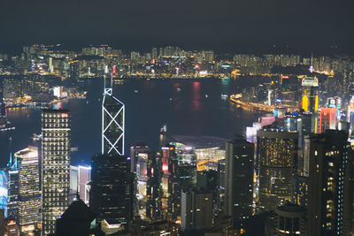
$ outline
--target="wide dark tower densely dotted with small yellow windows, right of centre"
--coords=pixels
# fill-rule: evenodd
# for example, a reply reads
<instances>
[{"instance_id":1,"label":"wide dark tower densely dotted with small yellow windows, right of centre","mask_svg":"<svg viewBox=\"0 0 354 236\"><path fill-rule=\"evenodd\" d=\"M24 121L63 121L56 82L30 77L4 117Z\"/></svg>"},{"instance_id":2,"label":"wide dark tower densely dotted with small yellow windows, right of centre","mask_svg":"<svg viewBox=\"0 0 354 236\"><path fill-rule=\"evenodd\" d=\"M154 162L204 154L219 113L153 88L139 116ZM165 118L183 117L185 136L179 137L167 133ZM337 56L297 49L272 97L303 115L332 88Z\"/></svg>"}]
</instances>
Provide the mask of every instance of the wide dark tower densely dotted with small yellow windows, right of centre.
<instances>
[{"instance_id":1,"label":"wide dark tower densely dotted with small yellow windows, right of centre","mask_svg":"<svg viewBox=\"0 0 354 236\"><path fill-rule=\"evenodd\" d=\"M274 210L291 201L298 133L259 130L257 135L258 209Z\"/></svg>"}]
</instances>

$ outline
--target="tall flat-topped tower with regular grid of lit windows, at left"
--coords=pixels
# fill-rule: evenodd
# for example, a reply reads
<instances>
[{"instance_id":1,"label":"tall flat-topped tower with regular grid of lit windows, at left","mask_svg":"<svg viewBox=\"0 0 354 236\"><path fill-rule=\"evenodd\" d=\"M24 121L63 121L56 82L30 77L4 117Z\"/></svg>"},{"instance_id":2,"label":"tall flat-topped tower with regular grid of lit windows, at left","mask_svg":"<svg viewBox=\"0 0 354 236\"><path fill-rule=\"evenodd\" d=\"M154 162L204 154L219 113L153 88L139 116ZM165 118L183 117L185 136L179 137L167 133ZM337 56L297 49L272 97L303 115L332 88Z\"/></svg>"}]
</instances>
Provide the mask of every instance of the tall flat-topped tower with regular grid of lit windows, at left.
<instances>
[{"instance_id":1,"label":"tall flat-topped tower with regular grid of lit windows, at left","mask_svg":"<svg viewBox=\"0 0 354 236\"><path fill-rule=\"evenodd\" d=\"M54 233L69 205L69 110L42 110L42 232Z\"/></svg>"}]
</instances>

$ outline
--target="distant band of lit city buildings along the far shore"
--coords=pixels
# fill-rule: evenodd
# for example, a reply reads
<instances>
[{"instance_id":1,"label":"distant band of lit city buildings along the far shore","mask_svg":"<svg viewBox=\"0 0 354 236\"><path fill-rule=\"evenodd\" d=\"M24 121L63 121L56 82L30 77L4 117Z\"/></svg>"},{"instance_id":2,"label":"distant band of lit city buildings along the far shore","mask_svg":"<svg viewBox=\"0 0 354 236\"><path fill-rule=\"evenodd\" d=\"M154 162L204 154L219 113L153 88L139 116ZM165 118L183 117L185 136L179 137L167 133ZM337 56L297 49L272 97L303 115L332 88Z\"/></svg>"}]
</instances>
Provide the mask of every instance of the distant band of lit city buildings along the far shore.
<instances>
[{"instance_id":1,"label":"distant band of lit city buildings along the far shore","mask_svg":"<svg viewBox=\"0 0 354 236\"><path fill-rule=\"evenodd\" d=\"M352 80L351 57L302 57L300 55L262 56L217 54L213 50L185 50L175 46L152 48L148 52L122 51L109 45L91 45L79 51L62 45L23 47L19 56L0 54L1 74L50 74L64 78L100 77L104 65L116 65L116 75L132 78L200 78L225 77L233 74L273 74L274 68L312 65L316 72L341 74Z\"/></svg>"}]
</instances>

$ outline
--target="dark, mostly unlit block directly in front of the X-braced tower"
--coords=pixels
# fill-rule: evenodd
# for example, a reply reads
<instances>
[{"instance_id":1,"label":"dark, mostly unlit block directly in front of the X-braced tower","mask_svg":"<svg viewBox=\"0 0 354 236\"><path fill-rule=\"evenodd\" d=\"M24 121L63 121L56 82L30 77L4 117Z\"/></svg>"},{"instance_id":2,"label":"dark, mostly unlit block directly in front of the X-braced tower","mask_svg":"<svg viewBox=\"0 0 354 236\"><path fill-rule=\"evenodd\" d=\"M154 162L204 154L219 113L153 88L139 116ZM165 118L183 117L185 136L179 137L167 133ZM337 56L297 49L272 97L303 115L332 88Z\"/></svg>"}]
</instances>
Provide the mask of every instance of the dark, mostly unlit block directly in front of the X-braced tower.
<instances>
[{"instance_id":1,"label":"dark, mostly unlit block directly in front of the X-braced tower","mask_svg":"<svg viewBox=\"0 0 354 236\"><path fill-rule=\"evenodd\" d=\"M126 156L94 155L91 159L89 206L99 221L128 225L133 219L133 177Z\"/></svg>"}]
</instances>

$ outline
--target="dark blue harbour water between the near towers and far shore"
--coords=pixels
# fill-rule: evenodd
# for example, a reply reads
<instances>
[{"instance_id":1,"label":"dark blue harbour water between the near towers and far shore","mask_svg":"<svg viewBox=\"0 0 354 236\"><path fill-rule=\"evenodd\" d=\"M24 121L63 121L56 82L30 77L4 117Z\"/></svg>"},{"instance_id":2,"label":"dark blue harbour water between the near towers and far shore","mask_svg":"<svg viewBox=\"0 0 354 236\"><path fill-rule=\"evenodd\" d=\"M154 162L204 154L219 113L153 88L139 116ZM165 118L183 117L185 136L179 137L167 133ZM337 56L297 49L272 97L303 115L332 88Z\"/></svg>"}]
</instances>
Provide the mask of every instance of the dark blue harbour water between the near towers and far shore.
<instances>
[{"instance_id":1,"label":"dark blue harbour water between the near towers and far shore","mask_svg":"<svg viewBox=\"0 0 354 236\"><path fill-rule=\"evenodd\" d=\"M167 125L169 134L209 135L230 139L242 134L244 126L257 120L258 114L237 110L221 94L234 94L247 85L238 80L125 80L114 85L113 94L126 104L126 153L135 141L147 141L158 148L158 133ZM87 99L72 99L58 104L72 116L72 164L89 164L90 156L100 151L101 103L103 80L85 81ZM0 166L8 162L9 137L12 151L26 148L33 133L41 133L41 110L7 110L16 130L0 133Z\"/></svg>"}]
</instances>

